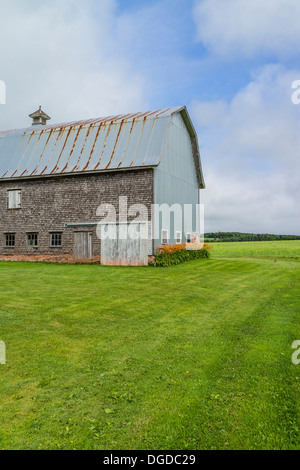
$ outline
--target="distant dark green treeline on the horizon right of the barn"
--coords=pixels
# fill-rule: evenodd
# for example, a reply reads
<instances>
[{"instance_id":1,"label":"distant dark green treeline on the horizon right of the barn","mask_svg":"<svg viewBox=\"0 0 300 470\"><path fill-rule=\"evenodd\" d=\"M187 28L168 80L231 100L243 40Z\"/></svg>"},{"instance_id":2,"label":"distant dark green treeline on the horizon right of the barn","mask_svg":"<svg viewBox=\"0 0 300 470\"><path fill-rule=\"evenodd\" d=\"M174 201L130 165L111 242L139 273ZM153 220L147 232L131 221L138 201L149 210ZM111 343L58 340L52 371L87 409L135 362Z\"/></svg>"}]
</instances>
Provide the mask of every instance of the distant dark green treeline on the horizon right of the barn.
<instances>
[{"instance_id":1,"label":"distant dark green treeline on the horizon right of the barn","mask_svg":"<svg viewBox=\"0 0 300 470\"><path fill-rule=\"evenodd\" d=\"M205 242L260 242L270 240L300 240L300 235L271 235L268 233L212 232L204 235Z\"/></svg>"}]
</instances>

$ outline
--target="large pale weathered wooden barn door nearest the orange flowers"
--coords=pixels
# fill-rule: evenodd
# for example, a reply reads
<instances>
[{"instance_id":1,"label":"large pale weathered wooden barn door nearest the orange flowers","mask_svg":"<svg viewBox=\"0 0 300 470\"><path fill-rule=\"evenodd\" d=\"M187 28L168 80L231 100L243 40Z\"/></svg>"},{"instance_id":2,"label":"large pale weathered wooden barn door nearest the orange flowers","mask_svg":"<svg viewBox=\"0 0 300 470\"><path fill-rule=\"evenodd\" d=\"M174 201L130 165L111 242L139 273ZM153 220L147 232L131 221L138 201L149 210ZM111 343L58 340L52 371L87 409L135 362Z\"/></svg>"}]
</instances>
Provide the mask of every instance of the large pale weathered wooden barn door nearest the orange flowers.
<instances>
[{"instance_id":1,"label":"large pale weathered wooden barn door nearest the orange flowers","mask_svg":"<svg viewBox=\"0 0 300 470\"><path fill-rule=\"evenodd\" d=\"M148 264L146 223L105 224L101 230L101 264L112 266ZM109 230L112 236L107 236ZM132 237L130 235L132 231L139 236Z\"/></svg>"}]
</instances>

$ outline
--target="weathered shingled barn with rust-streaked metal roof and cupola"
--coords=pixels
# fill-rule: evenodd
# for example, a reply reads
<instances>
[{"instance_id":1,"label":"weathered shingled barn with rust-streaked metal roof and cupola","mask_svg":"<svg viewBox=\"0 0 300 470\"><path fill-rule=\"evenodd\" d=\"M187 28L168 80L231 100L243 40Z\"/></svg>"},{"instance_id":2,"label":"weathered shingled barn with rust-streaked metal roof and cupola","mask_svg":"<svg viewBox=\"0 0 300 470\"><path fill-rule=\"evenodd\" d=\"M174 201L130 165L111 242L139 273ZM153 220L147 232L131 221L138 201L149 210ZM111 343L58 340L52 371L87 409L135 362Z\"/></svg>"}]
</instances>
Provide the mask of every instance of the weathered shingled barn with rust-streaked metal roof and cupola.
<instances>
[{"instance_id":1,"label":"weathered shingled barn with rust-streaked metal roof and cupola","mask_svg":"<svg viewBox=\"0 0 300 470\"><path fill-rule=\"evenodd\" d=\"M185 106L57 125L41 107L30 117L0 132L1 259L144 265L157 246L199 233L205 183ZM129 227L140 236L129 240Z\"/></svg>"}]
</instances>

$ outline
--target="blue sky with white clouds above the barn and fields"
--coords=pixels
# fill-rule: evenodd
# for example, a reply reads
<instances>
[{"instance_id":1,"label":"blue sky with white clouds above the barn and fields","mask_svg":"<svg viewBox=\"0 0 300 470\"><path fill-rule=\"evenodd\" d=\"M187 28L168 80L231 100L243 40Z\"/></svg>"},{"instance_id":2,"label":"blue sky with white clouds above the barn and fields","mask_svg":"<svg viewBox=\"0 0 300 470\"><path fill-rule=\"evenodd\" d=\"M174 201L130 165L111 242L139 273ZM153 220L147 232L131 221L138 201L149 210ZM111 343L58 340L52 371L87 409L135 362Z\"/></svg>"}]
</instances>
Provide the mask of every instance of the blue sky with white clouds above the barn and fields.
<instances>
[{"instance_id":1,"label":"blue sky with white clouds above the barn and fields","mask_svg":"<svg viewBox=\"0 0 300 470\"><path fill-rule=\"evenodd\" d=\"M39 105L52 123L185 105L205 231L300 235L299 17L299 0L0 0L0 130Z\"/></svg>"}]
</instances>

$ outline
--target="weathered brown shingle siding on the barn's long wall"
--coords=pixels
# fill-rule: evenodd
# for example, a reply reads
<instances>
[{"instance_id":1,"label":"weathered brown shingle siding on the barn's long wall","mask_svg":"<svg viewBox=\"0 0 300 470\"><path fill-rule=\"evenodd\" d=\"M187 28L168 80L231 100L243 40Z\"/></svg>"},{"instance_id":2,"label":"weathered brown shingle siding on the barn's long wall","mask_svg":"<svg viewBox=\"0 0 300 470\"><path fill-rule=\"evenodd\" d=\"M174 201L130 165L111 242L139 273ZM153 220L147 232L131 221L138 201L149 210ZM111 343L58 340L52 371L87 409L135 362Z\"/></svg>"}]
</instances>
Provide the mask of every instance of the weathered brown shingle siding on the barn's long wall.
<instances>
[{"instance_id":1,"label":"weathered brown shingle siding on the barn's long wall","mask_svg":"<svg viewBox=\"0 0 300 470\"><path fill-rule=\"evenodd\" d=\"M7 209L8 190L22 190L21 209ZM98 222L100 204L119 207L119 197L128 197L128 206L144 204L151 217L153 204L153 170L119 171L94 175L2 181L0 183L0 254L61 255L73 254L74 229L65 223ZM100 254L96 229L93 254ZM5 233L16 234L16 246L5 247ZM38 248L29 247L27 233L39 233ZM50 232L63 233L61 248L50 247Z\"/></svg>"}]
</instances>

